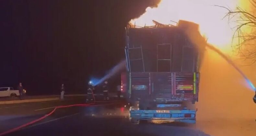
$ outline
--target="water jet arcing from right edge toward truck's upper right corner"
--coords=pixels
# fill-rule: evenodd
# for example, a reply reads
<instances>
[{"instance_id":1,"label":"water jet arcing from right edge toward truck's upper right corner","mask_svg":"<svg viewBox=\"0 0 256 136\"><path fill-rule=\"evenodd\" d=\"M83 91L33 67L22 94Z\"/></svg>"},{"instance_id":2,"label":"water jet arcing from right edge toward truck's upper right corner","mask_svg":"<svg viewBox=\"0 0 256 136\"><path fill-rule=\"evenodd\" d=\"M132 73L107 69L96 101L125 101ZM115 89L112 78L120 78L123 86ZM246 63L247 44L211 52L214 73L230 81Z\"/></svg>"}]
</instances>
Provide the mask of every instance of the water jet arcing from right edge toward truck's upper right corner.
<instances>
[{"instance_id":1,"label":"water jet arcing from right edge toward truck's upper right corner","mask_svg":"<svg viewBox=\"0 0 256 136\"><path fill-rule=\"evenodd\" d=\"M210 50L215 51L216 53L218 53L222 58L224 58L230 65L232 65L245 79L245 81L250 85L250 87L255 91L256 88L255 86L252 84L252 82L246 77L246 75L236 66L236 64L229 59L224 53L222 53L219 49L215 48L214 46L211 46L209 44L206 45L206 47L208 47Z\"/></svg>"}]
</instances>

